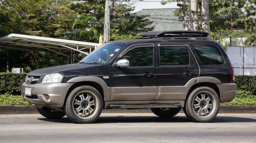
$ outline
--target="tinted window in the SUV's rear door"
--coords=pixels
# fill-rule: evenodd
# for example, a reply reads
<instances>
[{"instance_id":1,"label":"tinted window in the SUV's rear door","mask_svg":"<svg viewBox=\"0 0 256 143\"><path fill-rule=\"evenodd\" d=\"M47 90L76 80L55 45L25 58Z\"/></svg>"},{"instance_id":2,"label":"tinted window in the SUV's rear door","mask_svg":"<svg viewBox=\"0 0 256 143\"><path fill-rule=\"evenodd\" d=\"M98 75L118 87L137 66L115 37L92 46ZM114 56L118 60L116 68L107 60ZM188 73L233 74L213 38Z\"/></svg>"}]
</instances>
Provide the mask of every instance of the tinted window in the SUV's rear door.
<instances>
[{"instance_id":1,"label":"tinted window in the SUV's rear door","mask_svg":"<svg viewBox=\"0 0 256 143\"><path fill-rule=\"evenodd\" d=\"M160 66L189 65L189 52L186 47L160 46Z\"/></svg>"}]
</instances>

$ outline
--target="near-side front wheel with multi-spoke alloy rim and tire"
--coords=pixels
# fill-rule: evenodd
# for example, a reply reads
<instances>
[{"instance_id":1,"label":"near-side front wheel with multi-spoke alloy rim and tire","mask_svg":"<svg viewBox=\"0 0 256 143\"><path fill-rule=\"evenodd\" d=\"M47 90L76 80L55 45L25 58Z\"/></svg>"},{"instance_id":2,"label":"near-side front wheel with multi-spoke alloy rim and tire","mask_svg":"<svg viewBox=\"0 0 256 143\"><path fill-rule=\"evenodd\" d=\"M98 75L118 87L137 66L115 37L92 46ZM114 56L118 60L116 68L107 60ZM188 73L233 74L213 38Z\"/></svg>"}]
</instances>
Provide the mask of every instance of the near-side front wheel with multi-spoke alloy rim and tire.
<instances>
[{"instance_id":1,"label":"near-side front wheel with multi-spoke alloy rim and tire","mask_svg":"<svg viewBox=\"0 0 256 143\"><path fill-rule=\"evenodd\" d=\"M99 91L91 86L76 87L65 103L67 117L76 123L91 123L102 112L103 101Z\"/></svg>"}]
</instances>

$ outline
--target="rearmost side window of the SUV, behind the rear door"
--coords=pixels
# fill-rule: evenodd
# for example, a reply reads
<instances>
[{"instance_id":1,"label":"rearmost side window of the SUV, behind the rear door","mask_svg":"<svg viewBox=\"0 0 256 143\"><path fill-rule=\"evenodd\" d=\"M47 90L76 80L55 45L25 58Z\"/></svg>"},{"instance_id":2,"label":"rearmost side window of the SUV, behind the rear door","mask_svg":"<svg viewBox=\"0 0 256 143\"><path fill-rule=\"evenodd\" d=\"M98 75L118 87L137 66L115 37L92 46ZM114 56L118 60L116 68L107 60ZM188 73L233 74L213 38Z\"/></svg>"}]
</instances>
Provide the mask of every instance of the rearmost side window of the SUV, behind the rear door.
<instances>
[{"instance_id":1,"label":"rearmost side window of the SUV, behind the rear door","mask_svg":"<svg viewBox=\"0 0 256 143\"><path fill-rule=\"evenodd\" d=\"M191 45L197 55L199 56L201 62L204 65L222 65L224 64L224 58L218 47L214 45L202 45L202 44L192 44Z\"/></svg>"}]
</instances>

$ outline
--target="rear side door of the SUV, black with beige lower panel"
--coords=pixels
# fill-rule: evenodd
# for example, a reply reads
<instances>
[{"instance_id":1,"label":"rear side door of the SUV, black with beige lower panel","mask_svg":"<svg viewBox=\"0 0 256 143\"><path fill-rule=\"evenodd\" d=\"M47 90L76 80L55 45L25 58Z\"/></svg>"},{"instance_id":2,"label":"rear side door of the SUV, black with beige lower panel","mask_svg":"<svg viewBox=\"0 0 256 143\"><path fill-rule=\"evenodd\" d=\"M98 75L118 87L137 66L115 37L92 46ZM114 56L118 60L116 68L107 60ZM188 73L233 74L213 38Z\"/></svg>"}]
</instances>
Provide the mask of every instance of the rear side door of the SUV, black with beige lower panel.
<instances>
[{"instance_id":1,"label":"rear side door of the SUV, black with beige lower panel","mask_svg":"<svg viewBox=\"0 0 256 143\"><path fill-rule=\"evenodd\" d=\"M161 42L157 47L156 100L185 100L190 88L185 85L199 76L197 61L184 43Z\"/></svg>"}]
</instances>

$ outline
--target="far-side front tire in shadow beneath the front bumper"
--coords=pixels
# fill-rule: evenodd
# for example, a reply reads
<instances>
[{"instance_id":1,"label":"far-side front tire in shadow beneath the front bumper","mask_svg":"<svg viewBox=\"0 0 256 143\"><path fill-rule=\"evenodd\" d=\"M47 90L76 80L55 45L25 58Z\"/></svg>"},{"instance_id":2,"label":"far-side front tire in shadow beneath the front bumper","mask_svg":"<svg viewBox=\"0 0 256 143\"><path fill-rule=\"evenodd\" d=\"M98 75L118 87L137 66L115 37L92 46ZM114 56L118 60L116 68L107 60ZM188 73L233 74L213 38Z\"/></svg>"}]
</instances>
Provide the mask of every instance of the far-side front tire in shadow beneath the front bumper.
<instances>
[{"instance_id":1,"label":"far-side front tire in shadow beneath the front bumper","mask_svg":"<svg viewBox=\"0 0 256 143\"><path fill-rule=\"evenodd\" d=\"M59 119L65 116L64 112L59 112L55 110L44 110L41 108L36 107L37 111L44 117L49 119Z\"/></svg>"}]
</instances>

